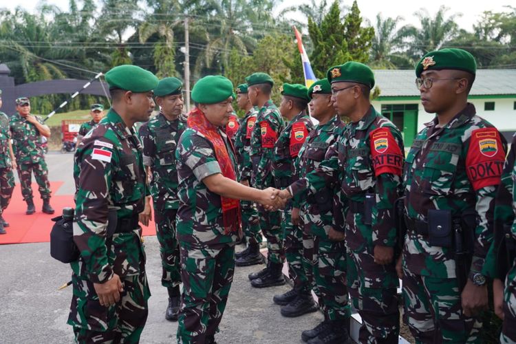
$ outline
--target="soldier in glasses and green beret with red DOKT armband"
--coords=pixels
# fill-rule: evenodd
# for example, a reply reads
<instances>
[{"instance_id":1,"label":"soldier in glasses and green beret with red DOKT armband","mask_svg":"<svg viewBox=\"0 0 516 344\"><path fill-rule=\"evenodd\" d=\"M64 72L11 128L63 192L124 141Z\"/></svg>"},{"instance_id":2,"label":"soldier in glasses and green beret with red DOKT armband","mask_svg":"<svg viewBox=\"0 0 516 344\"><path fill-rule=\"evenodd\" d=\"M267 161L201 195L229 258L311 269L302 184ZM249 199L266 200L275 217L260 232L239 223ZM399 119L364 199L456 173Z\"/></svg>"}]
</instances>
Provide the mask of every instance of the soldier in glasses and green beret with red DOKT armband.
<instances>
[{"instance_id":1,"label":"soldier in glasses and green beret with red DOKT armband","mask_svg":"<svg viewBox=\"0 0 516 344\"><path fill-rule=\"evenodd\" d=\"M484 260L506 147L467 103L475 72L475 58L460 49L429 52L416 65L424 110L437 115L404 171L403 296L417 343L481 341Z\"/></svg>"}]
</instances>

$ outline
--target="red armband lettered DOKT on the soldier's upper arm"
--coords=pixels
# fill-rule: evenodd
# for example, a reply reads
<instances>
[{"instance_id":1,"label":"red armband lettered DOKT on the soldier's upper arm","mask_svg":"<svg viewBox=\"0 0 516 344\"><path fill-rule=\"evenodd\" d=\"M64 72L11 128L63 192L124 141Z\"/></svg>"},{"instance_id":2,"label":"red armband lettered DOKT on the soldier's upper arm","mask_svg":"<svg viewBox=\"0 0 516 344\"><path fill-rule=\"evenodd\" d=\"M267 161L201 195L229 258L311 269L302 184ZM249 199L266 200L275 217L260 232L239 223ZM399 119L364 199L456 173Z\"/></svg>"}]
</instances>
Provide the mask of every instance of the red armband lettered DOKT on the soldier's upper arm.
<instances>
[{"instance_id":1,"label":"red armband lettered DOKT on the soldier's upper arm","mask_svg":"<svg viewBox=\"0 0 516 344\"><path fill-rule=\"evenodd\" d=\"M497 129L473 130L466 155L466 173L473 189L498 185L504 162L505 149Z\"/></svg>"}]
</instances>

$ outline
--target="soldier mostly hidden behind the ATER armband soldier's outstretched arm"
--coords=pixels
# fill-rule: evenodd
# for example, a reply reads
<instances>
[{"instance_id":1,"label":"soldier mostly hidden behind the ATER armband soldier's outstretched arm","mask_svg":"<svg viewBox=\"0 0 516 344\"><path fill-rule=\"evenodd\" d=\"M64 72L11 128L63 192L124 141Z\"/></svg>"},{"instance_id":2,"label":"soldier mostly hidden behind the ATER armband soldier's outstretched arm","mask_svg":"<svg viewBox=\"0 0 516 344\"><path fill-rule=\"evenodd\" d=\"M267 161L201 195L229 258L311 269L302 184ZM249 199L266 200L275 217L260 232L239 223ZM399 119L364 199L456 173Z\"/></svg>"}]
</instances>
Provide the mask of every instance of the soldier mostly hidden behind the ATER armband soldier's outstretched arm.
<instances>
[{"instance_id":1,"label":"soldier mostly hidden behind the ATER armband soldier's outstretched arm","mask_svg":"<svg viewBox=\"0 0 516 344\"><path fill-rule=\"evenodd\" d=\"M325 153L338 139L344 125L333 108L331 85L326 78L313 83L308 89L310 114L319 120L319 125L310 132L299 151L295 162L299 178L317 169ZM324 312L324 321L312 330L303 331L303 341L316 338L328 327L345 327L350 320L351 310L346 288L345 241L332 241L328 236L330 228L336 228L332 200L340 202L338 191L330 186L316 195L299 194L294 197L292 222L304 227L303 258L307 275L314 280L314 290Z\"/></svg>"}]
</instances>

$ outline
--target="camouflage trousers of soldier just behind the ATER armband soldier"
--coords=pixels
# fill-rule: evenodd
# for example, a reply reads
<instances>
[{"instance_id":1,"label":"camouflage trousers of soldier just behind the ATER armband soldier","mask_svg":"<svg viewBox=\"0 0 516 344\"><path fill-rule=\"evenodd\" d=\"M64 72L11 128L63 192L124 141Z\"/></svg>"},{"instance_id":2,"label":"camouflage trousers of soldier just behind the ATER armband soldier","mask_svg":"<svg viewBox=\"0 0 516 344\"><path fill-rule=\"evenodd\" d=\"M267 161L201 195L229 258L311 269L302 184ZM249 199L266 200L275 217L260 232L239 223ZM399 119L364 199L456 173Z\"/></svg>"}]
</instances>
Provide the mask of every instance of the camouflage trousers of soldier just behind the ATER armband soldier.
<instances>
[{"instance_id":1,"label":"camouflage trousers of soldier just behind the ATER armband soldier","mask_svg":"<svg viewBox=\"0 0 516 344\"><path fill-rule=\"evenodd\" d=\"M314 235L313 276L325 320L350 319L351 305L346 286L345 241L330 241Z\"/></svg>"}]
</instances>

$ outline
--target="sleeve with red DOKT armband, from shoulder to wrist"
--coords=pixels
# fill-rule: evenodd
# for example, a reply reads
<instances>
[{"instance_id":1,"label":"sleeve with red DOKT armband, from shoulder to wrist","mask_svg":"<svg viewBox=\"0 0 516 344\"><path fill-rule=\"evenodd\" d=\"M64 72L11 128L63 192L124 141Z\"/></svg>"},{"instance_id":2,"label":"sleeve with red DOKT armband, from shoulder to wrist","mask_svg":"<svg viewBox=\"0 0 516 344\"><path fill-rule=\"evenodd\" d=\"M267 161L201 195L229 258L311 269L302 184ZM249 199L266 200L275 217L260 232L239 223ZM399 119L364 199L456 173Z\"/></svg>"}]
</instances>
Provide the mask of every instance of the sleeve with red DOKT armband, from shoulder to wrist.
<instances>
[{"instance_id":1,"label":"sleeve with red DOKT armband, from shoulder to wrist","mask_svg":"<svg viewBox=\"0 0 516 344\"><path fill-rule=\"evenodd\" d=\"M496 141L498 149L494 155L482 153L482 144L479 144L478 141L486 137ZM495 195L502 176L506 144L502 142L502 138L495 128L481 128L472 131L467 147L466 171L476 193L477 226L470 269L475 273L484 270L486 256L493 241ZM478 178L475 171L479 171L481 166L487 172L483 178Z\"/></svg>"}]
</instances>

